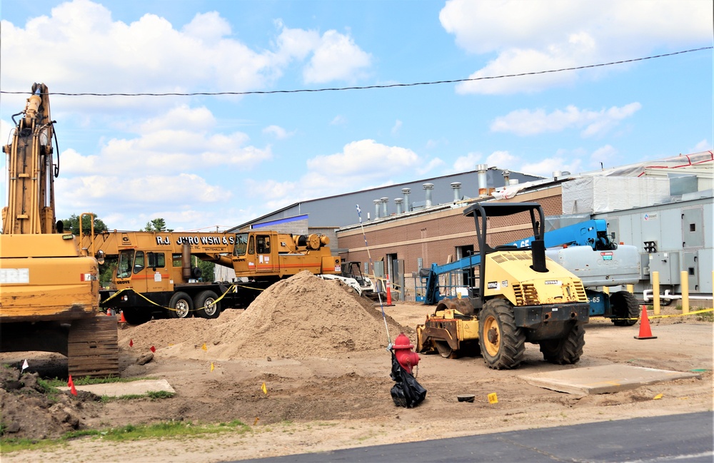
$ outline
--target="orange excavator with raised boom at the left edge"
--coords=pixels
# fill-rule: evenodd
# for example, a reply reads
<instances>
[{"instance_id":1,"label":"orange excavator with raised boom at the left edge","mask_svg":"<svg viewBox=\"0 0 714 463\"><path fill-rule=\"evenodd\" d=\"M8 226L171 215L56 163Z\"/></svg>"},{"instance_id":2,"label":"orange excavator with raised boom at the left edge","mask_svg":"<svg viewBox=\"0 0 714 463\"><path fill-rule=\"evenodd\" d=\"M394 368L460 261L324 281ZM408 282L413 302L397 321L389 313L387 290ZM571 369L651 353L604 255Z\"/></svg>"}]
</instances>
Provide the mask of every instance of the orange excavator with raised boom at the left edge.
<instances>
[{"instance_id":1,"label":"orange excavator with raised boom at the left edge","mask_svg":"<svg viewBox=\"0 0 714 463\"><path fill-rule=\"evenodd\" d=\"M117 375L116 319L97 316L97 260L55 221L59 161L47 86L35 83L24 111L12 118L11 143L2 148L8 200L0 234L0 350L59 352L75 377Z\"/></svg>"}]
</instances>

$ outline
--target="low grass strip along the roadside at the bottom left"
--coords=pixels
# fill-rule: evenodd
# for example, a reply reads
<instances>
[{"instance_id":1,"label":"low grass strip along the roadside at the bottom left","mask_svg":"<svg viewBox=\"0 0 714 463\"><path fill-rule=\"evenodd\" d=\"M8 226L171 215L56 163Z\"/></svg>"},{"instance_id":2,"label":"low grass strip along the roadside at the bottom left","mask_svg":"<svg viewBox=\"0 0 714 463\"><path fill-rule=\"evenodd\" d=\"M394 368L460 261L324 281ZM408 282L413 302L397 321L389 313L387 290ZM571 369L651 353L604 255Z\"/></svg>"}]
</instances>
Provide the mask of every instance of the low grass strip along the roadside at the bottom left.
<instances>
[{"instance_id":1,"label":"low grass strip along the roadside at the bottom left","mask_svg":"<svg viewBox=\"0 0 714 463\"><path fill-rule=\"evenodd\" d=\"M161 422L156 424L127 424L109 429L81 429L64 434L59 439L0 439L3 453L19 452L21 450L36 450L64 444L72 439L89 437L106 441L122 442L140 439L171 439L181 437L196 437L203 434L218 434L221 432L236 432L244 434L250 427L237 419L229 423L193 424L193 422Z\"/></svg>"}]
</instances>

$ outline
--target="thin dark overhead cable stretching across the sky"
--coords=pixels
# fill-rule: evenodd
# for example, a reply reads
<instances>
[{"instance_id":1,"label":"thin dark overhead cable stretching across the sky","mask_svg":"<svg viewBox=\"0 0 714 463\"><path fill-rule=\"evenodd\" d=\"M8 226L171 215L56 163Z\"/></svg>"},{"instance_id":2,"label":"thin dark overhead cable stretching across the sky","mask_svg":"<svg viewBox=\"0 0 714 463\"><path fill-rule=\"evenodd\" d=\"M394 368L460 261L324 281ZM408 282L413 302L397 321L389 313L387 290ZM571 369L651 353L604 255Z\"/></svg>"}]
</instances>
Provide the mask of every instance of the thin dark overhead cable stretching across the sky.
<instances>
[{"instance_id":1,"label":"thin dark overhead cable stretching across the sky","mask_svg":"<svg viewBox=\"0 0 714 463\"><path fill-rule=\"evenodd\" d=\"M645 56L644 58L632 58L625 59L622 61L611 61L610 63L598 63L598 64L588 64L586 66L573 66L571 68L560 68L560 69L548 69L547 71L532 71L523 72L516 74L504 74L502 76L486 76L486 77L473 77L473 78L456 78L446 81L430 81L430 82L412 82L412 83L388 83L384 85L368 85L368 86L353 86L353 87L328 87L328 88L298 88L294 90L266 90L266 91L216 91L216 92L191 92L191 93L65 93L65 92L51 92L51 95L64 95L64 96L220 96L220 95L271 95L273 93L308 93L308 92L321 92L321 91L343 91L343 90L369 90L371 88L394 88L394 87L415 87L423 85L438 85L441 83L461 83L461 82L475 82L475 81L486 81L493 80L497 78L509 78L509 77L523 77L523 76L536 76L538 74L548 74L556 72L565 71L578 71L580 69L588 68L599 68L603 66L615 66L616 64L634 63L635 61L645 61L648 59L655 58L665 58L667 56L675 56L684 53L692 53L693 51L702 51L713 49L713 46L703 46L699 49L674 51L673 53ZM28 91L4 91L0 90L0 93L8 94L21 94L21 93L31 93Z\"/></svg>"}]
</instances>

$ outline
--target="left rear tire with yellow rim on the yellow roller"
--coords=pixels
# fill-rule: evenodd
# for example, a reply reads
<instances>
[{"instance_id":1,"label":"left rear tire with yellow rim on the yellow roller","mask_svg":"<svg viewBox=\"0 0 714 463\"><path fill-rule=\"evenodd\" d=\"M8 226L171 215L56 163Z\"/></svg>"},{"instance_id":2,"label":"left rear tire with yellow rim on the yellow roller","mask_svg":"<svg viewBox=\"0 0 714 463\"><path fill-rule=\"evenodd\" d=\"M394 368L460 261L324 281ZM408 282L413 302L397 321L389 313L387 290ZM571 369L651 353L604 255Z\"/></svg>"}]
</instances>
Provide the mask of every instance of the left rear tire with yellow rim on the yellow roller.
<instances>
[{"instance_id":1,"label":"left rear tire with yellow rim on the yellow roller","mask_svg":"<svg viewBox=\"0 0 714 463\"><path fill-rule=\"evenodd\" d=\"M486 365L494 370L518 367L526 352L526 334L516 327L511 303L491 299L478 318L478 345Z\"/></svg>"}]
</instances>

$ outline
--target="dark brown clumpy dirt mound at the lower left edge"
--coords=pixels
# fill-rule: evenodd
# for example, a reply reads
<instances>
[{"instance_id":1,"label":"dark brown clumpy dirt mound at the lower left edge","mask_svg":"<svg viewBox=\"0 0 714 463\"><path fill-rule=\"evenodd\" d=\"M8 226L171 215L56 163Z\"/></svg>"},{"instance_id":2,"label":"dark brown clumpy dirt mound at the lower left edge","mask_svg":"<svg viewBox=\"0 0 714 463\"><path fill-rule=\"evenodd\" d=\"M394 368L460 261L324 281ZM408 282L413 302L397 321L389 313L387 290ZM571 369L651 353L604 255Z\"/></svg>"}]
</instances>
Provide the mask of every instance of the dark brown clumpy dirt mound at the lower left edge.
<instances>
[{"instance_id":1,"label":"dark brown clumpy dirt mound at the lower left edge","mask_svg":"<svg viewBox=\"0 0 714 463\"><path fill-rule=\"evenodd\" d=\"M0 368L0 437L54 439L81 429L100 400L89 392L75 397L69 392L47 391L37 373L21 373L13 367ZM53 390L54 391L54 390Z\"/></svg>"}]
</instances>

